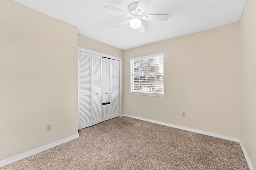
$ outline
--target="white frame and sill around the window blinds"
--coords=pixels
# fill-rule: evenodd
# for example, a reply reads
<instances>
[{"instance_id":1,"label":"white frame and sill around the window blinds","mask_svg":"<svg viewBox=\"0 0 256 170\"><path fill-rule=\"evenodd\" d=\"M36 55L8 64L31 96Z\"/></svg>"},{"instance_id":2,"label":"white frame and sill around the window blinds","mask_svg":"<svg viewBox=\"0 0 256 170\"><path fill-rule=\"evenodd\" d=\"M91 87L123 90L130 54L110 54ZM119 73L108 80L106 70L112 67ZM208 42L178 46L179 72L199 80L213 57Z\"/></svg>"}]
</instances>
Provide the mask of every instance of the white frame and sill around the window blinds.
<instances>
[{"instance_id":1,"label":"white frame and sill around the window blinds","mask_svg":"<svg viewBox=\"0 0 256 170\"><path fill-rule=\"evenodd\" d=\"M164 91L163 93L152 93L152 92L134 92L132 91L132 65L131 61L133 60L138 60L138 59L145 59L145 58L150 58L150 57L158 57L158 56L164 56L164 53L158 53L158 54L153 54L153 55L146 55L142 57L136 57L136 58L131 58L130 59L130 94L131 95L146 95L146 96L158 96L158 97L164 97ZM164 61L163 61L163 66L164 66ZM164 72L163 72L164 75ZM164 82L163 82L164 83Z\"/></svg>"}]
</instances>

